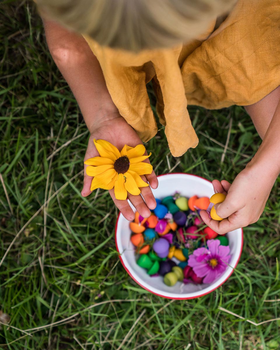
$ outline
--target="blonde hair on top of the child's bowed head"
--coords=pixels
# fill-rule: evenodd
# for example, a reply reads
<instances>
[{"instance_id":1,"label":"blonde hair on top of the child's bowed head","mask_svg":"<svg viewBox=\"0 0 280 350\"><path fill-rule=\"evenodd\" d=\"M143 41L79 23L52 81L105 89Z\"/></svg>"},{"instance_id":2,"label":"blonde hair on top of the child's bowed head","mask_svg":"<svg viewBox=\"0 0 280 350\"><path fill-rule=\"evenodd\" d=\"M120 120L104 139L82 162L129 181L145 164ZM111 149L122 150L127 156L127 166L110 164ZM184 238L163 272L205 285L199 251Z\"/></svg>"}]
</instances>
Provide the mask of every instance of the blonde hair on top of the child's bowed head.
<instances>
[{"instance_id":1,"label":"blonde hair on top of the child's bowed head","mask_svg":"<svg viewBox=\"0 0 280 350\"><path fill-rule=\"evenodd\" d=\"M37 0L44 15L100 45L130 51L170 47L207 29L236 0Z\"/></svg>"}]
</instances>

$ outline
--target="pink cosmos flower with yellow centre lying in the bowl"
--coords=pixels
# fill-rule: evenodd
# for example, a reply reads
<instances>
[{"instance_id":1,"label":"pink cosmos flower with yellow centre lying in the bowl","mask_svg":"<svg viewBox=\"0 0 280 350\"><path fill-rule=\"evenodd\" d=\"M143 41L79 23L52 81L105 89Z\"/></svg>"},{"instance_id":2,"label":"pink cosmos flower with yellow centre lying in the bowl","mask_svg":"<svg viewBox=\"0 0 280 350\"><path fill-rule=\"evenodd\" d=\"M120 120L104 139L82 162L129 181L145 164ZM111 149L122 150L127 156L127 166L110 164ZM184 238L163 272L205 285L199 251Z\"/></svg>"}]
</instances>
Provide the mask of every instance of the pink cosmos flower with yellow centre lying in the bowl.
<instances>
[{"instance_id":1,"label":"pink cosmos flower with yellow centre lying in the bowl","mask_svg":"<svg viewBox=\"0 0 280 350\"><path fill-rule=\"evenodd\" d=\"M204 277L203 283L212 283L225 271L230 260L230 247L220 245L218 239L209 239L207 246L194 250L189 255L188 266L191 266L197 277Z\"/></svg>"}]
</instances>

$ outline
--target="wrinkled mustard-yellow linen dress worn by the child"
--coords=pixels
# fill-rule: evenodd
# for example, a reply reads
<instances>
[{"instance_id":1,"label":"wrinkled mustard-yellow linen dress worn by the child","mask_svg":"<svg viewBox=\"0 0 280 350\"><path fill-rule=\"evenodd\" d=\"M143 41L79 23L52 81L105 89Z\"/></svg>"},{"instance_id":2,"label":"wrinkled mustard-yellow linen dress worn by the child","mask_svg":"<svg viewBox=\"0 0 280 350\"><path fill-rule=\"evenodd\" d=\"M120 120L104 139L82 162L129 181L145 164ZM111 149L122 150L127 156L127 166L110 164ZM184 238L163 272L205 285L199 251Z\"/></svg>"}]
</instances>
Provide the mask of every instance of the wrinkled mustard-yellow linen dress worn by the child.
<instances>
[{"instance_id":1,"label":"wrinkled mustard-yellow linen dress worn by the child","mask_svg":"<svg viewBox=\"0 0 280 350\"><path fill-rule=\"evenodd\" d=\"M239 0L214 33L209 23L188 44L138 54L84 37L114 104L143 142L158 131L146 88L152 80L159 121L177 157L198 144L187 102L208 109L250 105L280 85L279 17L279 0Z\"/></svg>"}]
</instances>

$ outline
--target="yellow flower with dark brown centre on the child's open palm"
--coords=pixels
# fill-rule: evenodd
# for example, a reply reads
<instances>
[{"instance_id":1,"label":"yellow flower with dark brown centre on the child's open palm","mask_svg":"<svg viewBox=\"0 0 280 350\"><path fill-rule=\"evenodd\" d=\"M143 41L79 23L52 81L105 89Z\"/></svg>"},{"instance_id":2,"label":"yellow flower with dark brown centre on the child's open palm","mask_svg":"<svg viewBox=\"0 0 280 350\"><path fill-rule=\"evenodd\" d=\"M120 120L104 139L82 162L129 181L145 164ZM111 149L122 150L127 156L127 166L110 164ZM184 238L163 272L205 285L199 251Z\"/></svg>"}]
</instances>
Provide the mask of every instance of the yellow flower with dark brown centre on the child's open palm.
<instances>
[{"instance_id":1,"label":"yellow flower with dark brown centre on the child's open palm","mask_svg":"<svg viewBox=\"0 0 280 350\"><path fill-rule=\"evenodd\" d=\"M91 191L100 187L111 190L114 187L115 196L119 200L127 198L127 192L134 196L141 193L139 187L149 186L140 175L151 174L151 164L143 163L149 155L143 155L146 151L143 145L130 147L124 145L119 152L117 147L105 140L93 140L100 157L94 157L85 161L86 173L94 176L91 183Z\"/></svg>"}]
</instances>

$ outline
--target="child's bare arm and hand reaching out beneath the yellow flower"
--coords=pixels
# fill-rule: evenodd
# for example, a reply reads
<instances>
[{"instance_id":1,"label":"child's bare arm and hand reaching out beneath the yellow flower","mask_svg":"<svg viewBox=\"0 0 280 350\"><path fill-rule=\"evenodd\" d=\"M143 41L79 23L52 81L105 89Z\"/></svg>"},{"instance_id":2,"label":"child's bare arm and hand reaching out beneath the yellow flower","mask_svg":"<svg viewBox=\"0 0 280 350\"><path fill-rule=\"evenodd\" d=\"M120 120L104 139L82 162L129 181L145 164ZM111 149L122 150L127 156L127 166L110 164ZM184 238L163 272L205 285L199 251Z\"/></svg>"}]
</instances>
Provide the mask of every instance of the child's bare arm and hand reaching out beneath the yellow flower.
<instances>
[{"instance_id":1,"label":"child's bare arm and hand reaching out beneath the yellow flower","mask_svg":"<svg viewBox=\"0 0 280 350\"><path fill-rule=\"evenodd\" d=\"M91 133L85 159L99 155L93 144L93 138L105 139L119 149L125 144L132 147L141 144L142 141L137 133L120 116L114 105L99 62L83 36L70 32L56 22L49 20L43 20L43 22L50 53L75 95ZM148 159L145 161L149 163ZM92 177L86 175L85 168L82 196L91 193ZM144 181L148 181L152 188L158 186L154 171L146 177L141 177ZM127 200L116 200L114 189L110 190L109 193L122 214L128 220L132 220L134 214ZM141 194L145 201L141 195L129 195L128 199L143 217L147 217L150 215L148 208L154 209L156 202L150 187L142 188Z\"/></svg>"}]
</instances>

